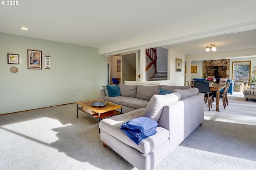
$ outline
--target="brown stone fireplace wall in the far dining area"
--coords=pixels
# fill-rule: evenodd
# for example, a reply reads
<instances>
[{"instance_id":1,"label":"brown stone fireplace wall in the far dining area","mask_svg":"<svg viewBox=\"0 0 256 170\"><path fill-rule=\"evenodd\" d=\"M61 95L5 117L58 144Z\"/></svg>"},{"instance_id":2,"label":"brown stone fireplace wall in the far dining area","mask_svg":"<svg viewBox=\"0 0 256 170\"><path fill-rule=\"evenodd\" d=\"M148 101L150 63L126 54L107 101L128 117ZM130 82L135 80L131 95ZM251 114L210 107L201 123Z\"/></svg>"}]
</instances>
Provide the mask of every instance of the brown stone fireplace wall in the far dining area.
<instances>
[{"instance_id":1,"label":"brown stone fireplace wall in the far dining area","mask_svg":"<svg viewBox=\"0 0 256 170\"><path fill-rule=\"evenodd\" d=\"M229 78L230 59L203 61L203 74L216 78ZM204 78L204 77L203 77Z\"/></svg>"}]
</instances>

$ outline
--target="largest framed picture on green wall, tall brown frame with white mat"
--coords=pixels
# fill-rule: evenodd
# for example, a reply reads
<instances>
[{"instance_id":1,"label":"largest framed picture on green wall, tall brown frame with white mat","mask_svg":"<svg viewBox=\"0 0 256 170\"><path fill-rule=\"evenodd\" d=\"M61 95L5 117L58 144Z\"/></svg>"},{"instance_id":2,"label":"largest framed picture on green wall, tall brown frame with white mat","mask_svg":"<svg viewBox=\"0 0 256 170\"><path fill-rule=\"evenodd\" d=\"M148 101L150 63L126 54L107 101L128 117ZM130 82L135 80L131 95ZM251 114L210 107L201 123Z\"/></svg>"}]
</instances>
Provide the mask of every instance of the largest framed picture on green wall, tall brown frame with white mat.
<instances>
[{"instance_id":1,"label":"largest framed picture on green wall, tall brown frame with white mat","mask_svg":"<svg viewBox=\"0 0 256 170\"><path fill-rule=\"evenodd\" d=\"M42 69L42 51L28 50L28 69Z\"/></svg>"}]
</instances>

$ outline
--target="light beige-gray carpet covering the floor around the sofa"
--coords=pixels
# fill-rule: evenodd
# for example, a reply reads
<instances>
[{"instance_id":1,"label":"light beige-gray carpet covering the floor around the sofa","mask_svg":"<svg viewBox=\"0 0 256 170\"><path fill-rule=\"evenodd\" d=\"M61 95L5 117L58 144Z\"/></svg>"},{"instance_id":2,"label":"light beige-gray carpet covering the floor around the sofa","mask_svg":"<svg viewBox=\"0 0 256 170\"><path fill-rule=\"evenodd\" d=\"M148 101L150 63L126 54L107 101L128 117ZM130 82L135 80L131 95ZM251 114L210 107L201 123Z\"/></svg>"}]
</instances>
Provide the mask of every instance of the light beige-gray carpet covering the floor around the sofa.
<instances>
[{"instance_id":1,"label":"light beige-gray carpet covering the floor around the sofa","mask_svg":"<svg viewBox=\"0 0 256 170\"><path fill-rule=\"evenodd\" d=\"M241 92L216 112L205 104L205 120L155 170L256 169L256 100ZM193 109L193 108L191 108ZM98 120L76 104L0 116L1 170L136 170L104 148Z\"/></svg>"}]
</instances>

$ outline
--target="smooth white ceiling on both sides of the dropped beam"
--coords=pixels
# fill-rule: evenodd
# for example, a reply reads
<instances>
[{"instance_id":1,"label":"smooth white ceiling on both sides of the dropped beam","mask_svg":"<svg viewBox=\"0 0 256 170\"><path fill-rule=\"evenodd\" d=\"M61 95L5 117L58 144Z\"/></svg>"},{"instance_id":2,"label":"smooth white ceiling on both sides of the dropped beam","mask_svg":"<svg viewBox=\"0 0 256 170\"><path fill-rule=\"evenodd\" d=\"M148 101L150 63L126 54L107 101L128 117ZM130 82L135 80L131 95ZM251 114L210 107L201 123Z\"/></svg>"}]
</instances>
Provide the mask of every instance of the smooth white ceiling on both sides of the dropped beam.
<instances>
[{"instance_id":1,"label":"smooth white ceiling on both sides of the dropped beam","mask_svg":"<svg viewBox=\"0 0 256 170\"><path fill-rule=\"evenodd\" d=\"M16 6L0 6L0 32L100 49L255 4L255 0L22 0ZM254 48L255 39L256 30L250 30L164 47L196 54L204 53L210 43L217 51Z\"/></svg>"}]
</instances>

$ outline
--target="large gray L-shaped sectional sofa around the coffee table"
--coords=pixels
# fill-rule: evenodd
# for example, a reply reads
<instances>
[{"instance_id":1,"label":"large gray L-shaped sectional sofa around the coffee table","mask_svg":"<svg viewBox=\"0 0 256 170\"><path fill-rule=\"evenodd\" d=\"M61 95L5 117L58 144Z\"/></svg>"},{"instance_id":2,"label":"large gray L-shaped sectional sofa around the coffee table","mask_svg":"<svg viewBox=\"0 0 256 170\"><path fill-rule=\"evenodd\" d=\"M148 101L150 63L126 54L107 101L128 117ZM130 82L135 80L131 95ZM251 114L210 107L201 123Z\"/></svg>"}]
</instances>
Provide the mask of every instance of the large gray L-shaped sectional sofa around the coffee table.
<instances>
[{"instance_id":1,"label":"large gray L-shaped sectional sofa around the coffee table","mask_svg":"<svg viewBox=\"0 0 256 170\"><path fill-rule=\"evenodd\" d=\"M128 97L126 99L122 96L107 97L101 91L101 97L104 97L102 98L104 100L126 104L128 102L123 103L123 100L133 98L135 102L140 101L141 105L138 106L138 104L136 107L141 108L136 109L135 106L130 107L128 105L125 107L132 109L132 111L101 120L99 123L100 140L103 141L104 147L108 145L139 170L152 170L202 124L204 121L204 94L198 93L197 88L186 88L186 86L180 87L184 89L164 85L157 87L140 86L137 87L137 93L138 90L139 93L136 94L136 97L124 96ZM150 90L144 91L146 88L150 88ZM137 98L140 97L140 90L142 90L142 94L147 93L144 96L148 95L150 97L154 88L172 89L172 93L165 95L153 94L149 100ZM122 91L121 89L120 91ZM110 101L109 98L116 99ZM143 139L136 145L120 130L120 127L123 123L142 116L155 120L158 126L155 135Z\"/></svg>"}]
</instances>

